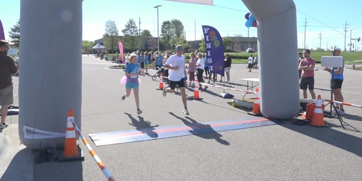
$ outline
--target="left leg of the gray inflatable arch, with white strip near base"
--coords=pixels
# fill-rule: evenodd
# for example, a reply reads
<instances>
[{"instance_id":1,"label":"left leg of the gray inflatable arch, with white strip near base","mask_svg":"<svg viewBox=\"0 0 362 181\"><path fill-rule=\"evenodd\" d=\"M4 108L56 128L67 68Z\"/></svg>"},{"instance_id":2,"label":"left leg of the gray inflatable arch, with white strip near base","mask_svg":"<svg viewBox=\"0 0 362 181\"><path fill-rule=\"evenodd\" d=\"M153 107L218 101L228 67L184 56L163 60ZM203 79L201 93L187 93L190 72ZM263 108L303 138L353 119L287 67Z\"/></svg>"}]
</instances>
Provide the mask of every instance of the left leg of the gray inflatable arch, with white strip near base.
<instances>
[{"instance_id":1,"label":"left leg of the gray inflatable arch, with white strip near base","mask_svg":"<svg viewBox=\"0 0 362 181\"><path fill-rule=\"evenodd\" d=\"M82 1L20 2L19 138L63 148L68 110L81 127Z\"/></svg>"}]
</instances>

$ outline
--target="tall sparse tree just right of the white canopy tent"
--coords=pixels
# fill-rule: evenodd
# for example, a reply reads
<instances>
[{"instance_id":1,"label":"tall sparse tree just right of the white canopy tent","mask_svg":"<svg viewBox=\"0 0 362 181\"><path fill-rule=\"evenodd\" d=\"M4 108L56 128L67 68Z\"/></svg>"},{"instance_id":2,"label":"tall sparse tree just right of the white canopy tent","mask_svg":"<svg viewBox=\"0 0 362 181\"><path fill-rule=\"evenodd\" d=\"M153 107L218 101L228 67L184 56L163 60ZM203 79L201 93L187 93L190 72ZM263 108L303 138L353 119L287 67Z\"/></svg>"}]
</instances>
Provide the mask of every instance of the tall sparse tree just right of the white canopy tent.
<instances>
[{"instance_id":1,"label":"tall sparse tree just right of the white canopy tent","mask_svg":"<svg viewBox=\"0 0 362 181\"><path fill-rule=\"evenodd\" d=\"M115 22L112 20L106 21L105 31L106 32L103 34L104 46L108 50L111 50L111 52L113 53L114 50L117 50L116 47L118 47L118 41L119 41L118 29Z\"/></svg>"}]
</instances>

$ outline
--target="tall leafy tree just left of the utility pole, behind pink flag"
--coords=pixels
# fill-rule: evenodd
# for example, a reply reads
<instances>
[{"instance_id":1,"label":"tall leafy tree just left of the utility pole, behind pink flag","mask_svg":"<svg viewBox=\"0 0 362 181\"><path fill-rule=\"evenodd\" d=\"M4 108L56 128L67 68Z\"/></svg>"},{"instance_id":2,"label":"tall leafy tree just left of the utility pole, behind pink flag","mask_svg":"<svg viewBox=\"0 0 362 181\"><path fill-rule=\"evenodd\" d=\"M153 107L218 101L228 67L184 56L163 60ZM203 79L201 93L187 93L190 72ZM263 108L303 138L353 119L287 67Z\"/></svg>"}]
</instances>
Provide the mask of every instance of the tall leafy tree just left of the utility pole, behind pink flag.
<instances>
[{"instance_id":1,"label":"tall leafy tree just left of the utility pole, behind pink flag","mask_svg":"<svg viewBox=\"0 0 362 181\"><path fill-rule=\"evenodd\" d=\"M140 39L138 37L138 28L136 26L135 20L130 18L125 25L125 29L122 30L122 33L125 35L123 37L123 45L125 49L135 50L139 46Z\"/></svg>"}]
</instances>

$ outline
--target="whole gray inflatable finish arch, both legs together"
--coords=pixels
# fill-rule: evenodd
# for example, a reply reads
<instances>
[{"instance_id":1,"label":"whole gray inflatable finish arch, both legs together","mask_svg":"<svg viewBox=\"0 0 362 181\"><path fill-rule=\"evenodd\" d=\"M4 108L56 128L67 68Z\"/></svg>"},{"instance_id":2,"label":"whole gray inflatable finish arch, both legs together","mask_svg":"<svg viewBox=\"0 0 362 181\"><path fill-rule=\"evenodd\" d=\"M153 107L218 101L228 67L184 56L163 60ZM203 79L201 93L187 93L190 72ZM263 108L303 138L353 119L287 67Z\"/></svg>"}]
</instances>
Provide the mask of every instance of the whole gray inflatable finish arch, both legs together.
<instances>
[{"instance_id":1,"label":"whole gray inflatable finish arch, both legs together","mask_svg":"<svg viewBox=\"0 0 362 181\"><path fill-rule=\"evenodd\" d=\"M242 1L257 20L261 112L292 118L299 111L295 4ZM68 109L81 128L82 1L20 4L20 54L26 61L20 66L19 138L34 150L63 148Z\"/></svg>"}]
</instances>

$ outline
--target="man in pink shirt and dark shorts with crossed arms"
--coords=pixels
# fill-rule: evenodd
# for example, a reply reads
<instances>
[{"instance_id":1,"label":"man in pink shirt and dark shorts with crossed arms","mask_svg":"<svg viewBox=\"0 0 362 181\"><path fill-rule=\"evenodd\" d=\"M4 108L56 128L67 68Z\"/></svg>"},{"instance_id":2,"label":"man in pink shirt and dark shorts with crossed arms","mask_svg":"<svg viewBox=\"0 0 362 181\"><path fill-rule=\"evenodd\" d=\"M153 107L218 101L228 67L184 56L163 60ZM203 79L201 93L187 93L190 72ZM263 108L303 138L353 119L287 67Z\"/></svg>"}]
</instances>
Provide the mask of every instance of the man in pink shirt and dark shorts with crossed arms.
<instances>
[{"instance_id":1,"label":"man in pink shirt and dark shorts with crossed arms","mask_svg":"<svg viewBox=\"0 0 362 181\"><path fill-rule=\"evenodd\" d=\"M316 65L316 60L311 58L311 51L305 49L303 51L304 59L299 63L299 70L302 71L302 77L300 78L300 89L303 90L303 97L306 99L307 86L309 92L312 95L312 99L316 99L316 94L314 93L314 67Z\"/></svg>"}]
</instances>

